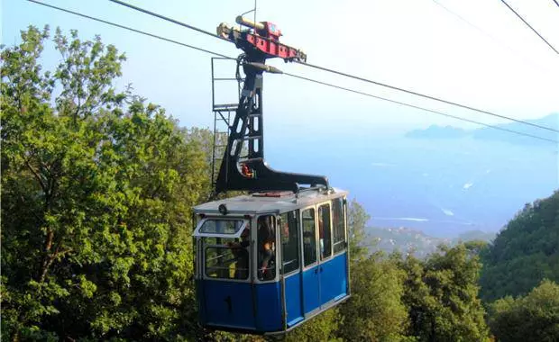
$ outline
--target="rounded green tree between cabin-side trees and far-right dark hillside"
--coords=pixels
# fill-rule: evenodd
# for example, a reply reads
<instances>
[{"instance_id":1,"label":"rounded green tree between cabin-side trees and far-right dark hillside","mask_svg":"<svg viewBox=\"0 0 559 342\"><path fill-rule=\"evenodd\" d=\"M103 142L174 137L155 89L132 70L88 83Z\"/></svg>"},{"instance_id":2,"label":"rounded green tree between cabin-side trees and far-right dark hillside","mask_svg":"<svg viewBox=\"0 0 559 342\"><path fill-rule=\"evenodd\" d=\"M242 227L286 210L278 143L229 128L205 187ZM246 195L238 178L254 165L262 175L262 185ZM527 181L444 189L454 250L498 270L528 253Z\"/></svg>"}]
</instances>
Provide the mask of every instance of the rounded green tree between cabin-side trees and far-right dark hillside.
<instances>
[{"instance_id":1,"label":"rounded green tree between cabin-side trees and far-right dark hillside","mask_svg":"<svg viewBox=\"0 0 559 342\"><path fill-rule=\"evenodd\" d=\"M479 258L463 244L441 245L425 262L407 257L403 302L408 335L418 341L483 341L488 329L478 298Z\"/></svg>"}]
</instances>

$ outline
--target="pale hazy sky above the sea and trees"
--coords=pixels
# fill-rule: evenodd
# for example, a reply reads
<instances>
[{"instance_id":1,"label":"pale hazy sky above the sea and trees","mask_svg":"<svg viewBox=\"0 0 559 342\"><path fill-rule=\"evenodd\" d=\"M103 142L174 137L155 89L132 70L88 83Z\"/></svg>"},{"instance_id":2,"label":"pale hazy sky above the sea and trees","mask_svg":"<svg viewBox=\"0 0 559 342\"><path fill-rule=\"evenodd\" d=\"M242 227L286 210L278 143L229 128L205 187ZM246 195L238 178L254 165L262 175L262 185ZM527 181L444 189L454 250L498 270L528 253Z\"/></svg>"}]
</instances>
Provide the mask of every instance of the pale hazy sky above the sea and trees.
<instances>
[{"instance_id":1,"label":"pale hazy sky above the sea and trees","mask_svg":"<svg viewBox=\"0 0 559 342\"><path fill-rule=\"evenodd\" d=\"M303 49L309 63L518 119L559 112L559 55L504 4L497 0L438 1L487 33L464 23L433 0L260 0L256 19L276 23L284 34L282 41ZM233 44L109 1L49 3L226 55L241 52ZM254 4L253 0L130 3L207 31L215 31L222 22L234 23L236 15ZM510 0L509 4L559 49L559 7L552 0ZM19 41L19 31L29 24L50 24L52 31L56 26L66 32L77 29L82 39L100 34L105 43L115 44L128 58L119 85L132 83L137 94L165 107L183 126L213 124L209 55L27 1L2 1L3 43ZM52 49L45 56L47 66L60 58ZM269 63L290 73L472 120L502 122L282 60ZM233 73L234 65L222 69ZM232 88L226 85L222 91ZM346 134L409 130L432 123L472 127L288 76L265 76L264 101L265 127L271 135L301 127L311 131L336 128Z\"/></svg>"}]
</instances>

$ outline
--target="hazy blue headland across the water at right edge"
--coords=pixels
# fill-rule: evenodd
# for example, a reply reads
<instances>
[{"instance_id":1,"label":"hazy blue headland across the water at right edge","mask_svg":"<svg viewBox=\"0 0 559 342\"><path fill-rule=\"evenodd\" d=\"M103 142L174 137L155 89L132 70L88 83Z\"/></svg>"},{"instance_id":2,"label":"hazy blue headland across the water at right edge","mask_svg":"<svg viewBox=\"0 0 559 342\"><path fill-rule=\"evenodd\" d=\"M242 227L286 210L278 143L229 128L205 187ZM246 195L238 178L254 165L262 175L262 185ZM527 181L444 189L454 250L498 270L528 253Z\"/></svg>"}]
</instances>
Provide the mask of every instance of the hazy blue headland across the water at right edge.
<instances>
[{"instance_id":1,"label":"hazy blue headland across the water at right edge","mask_svg":"<svg viewBox=\"0 0 559 342\"><path fill-rule=\"evenodd\" d=\"M527 122L549 127L554 130L559 129L559 112L551 113L543 118L536 120L527 120ZM513 144L522 145L548 145L549 142L541 139L534 139L526 135L541 137L544 139L559 139L557 132L552 130L544 130L535 126L530 126L521 122L510 122L495 125L499 129L484 127L477 130L462 130L452 126L431 125L425 130L410 130L406 133L406 138L411 139L459 139L470 137L481 140L504 141ZM510 130L517 131L522 134L512 133Z\"/></svg>"}]
</instances>

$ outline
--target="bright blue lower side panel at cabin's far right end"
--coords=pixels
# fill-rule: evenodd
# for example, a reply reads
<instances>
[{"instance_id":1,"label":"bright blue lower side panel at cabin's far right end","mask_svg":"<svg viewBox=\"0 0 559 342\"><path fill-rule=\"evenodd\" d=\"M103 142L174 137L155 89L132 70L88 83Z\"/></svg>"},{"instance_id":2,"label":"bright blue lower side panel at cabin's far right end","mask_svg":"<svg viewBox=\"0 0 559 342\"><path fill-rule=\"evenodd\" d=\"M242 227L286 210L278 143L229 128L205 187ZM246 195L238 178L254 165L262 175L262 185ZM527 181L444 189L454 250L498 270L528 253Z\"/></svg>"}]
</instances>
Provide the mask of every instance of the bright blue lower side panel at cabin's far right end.
<instances>
[{"instance_id":1,"label":"bright blue lower side panel at cabin's far right end","mask_svg":"<svg viewBox=\"0 0 559 342\"><path fill-rule=\"evenodd\" d=\"M325 304L347 293L347 253L339 254L322 264L320 270L320 302Z\"/></svg>"}]
</instances>

